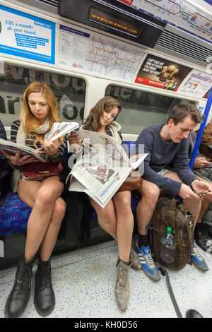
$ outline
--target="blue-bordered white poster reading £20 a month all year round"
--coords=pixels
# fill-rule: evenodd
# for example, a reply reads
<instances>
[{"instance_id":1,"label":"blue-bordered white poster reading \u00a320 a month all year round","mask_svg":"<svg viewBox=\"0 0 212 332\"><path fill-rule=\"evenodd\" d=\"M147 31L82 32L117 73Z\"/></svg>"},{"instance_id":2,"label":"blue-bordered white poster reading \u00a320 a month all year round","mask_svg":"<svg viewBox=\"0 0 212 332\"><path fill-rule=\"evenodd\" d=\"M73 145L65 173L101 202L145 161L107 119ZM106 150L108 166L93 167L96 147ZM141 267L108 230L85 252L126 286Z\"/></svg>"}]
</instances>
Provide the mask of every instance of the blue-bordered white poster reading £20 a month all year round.
<instances>
[{"instance_id":1,"label":"blue-bordered white poster reading \u00a320 a month all year round","mask_svg":"<svg viewBox=\"0 0 212 332\"><path fill-rule=\"evenodd\" d=\"M55 23L0 5L0 52L55 63Z\"/></svg>"}]
</instances>

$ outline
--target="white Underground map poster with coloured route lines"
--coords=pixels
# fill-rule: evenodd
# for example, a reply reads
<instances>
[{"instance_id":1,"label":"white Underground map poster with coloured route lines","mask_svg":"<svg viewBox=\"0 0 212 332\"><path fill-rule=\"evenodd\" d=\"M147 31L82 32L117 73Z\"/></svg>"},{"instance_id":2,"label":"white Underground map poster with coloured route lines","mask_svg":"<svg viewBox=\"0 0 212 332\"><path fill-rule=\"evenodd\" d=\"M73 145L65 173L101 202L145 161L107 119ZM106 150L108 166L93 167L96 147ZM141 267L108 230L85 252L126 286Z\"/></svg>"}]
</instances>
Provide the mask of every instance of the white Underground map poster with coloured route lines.
<instances>
[{"instance_id":1,"label":"white Underground map poster with coloured route lines","mask_svg":"<svg viewBox=\"0 0 212 332\"><path fill-rule=\"evenodd\" d=\"M60 66L133 81L143 56L139 47L60 25Z\"/></svg>"}]
</instances>

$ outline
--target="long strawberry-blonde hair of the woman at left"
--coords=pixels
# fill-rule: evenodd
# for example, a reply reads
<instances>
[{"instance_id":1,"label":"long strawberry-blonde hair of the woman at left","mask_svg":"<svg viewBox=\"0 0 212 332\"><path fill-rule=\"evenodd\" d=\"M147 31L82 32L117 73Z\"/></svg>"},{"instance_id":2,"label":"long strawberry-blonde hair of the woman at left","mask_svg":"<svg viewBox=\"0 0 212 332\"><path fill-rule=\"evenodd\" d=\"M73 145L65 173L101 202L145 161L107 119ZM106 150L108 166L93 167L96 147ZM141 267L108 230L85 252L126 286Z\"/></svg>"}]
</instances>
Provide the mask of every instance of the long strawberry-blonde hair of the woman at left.
<instances>
[{"instance_id":1,"label":"long strawberry-blonde hair of the woman at left","mask_svg":"<svg viewBox=\"0 0 212 332\"><path fill-rule=\"evenodd\" d=\"M25 92L23 93L23 108L20 113L20 121L23 126L25 134L30 136L30 138L32 136L35 136L35 146L36 146L37 141L43 139L44 135L39 135L35 131L37 127L40 126L40 124L30 110L30 106L28 103L28 97L30 93L42 93L47 104L49 105L50 108L49 129L52 128L54 122L61 122L61 119L59 117L57 100L54 97L52 89L49 87L49 85L41 81L34 81L30 85L28 85L28 88L26 88ZM62 142L63 140L60 138L59 141Z\"/></svg>"}]
</instances>

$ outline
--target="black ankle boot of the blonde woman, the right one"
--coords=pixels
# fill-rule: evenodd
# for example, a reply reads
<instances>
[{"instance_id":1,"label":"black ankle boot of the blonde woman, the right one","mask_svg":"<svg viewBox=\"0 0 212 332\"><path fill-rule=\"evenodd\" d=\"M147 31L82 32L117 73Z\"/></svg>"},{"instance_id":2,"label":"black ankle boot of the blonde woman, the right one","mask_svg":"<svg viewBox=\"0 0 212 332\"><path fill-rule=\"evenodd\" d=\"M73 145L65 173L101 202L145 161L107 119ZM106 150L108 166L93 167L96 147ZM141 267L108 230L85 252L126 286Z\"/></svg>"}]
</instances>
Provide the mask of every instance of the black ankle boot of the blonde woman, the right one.
<instances>
[{"instance_id":1,"label":"black ankle boot of the blonde woman, the right one","mask_svg":"<svg viewBox=\"0 0 212 332\"><path fill-rule=\"evenodd\" d=\"M42 316L47 316L54 309L55 298L50 261L39 261L38 263L35 275L34 304L37 312Z\"/></svg>"}]
</instances>

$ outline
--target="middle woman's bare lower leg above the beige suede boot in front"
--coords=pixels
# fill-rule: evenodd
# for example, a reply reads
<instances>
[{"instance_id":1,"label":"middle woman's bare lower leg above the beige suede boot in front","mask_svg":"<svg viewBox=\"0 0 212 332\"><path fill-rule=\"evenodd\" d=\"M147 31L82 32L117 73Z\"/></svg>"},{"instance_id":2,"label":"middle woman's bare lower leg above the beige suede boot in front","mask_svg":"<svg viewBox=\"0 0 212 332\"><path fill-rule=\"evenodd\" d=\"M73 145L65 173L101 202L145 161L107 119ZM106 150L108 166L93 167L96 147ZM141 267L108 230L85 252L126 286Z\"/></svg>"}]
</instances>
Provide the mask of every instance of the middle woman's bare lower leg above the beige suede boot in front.
<instances>
[{"instance_id":1,"label":"middle woman's bare lower leg above the beige suede boot in front","mask_svg":"<svg viewBox=\"0 0 212 332\"><path fill-rule=\"evenodd\" d=\"M119 192L114 195L113 201L117 212L119 259L129 261L131 239L134 230L134 215L131 211L131 192Z\"/></svg>"}]
</instances>

